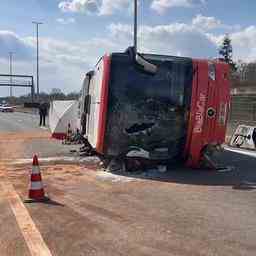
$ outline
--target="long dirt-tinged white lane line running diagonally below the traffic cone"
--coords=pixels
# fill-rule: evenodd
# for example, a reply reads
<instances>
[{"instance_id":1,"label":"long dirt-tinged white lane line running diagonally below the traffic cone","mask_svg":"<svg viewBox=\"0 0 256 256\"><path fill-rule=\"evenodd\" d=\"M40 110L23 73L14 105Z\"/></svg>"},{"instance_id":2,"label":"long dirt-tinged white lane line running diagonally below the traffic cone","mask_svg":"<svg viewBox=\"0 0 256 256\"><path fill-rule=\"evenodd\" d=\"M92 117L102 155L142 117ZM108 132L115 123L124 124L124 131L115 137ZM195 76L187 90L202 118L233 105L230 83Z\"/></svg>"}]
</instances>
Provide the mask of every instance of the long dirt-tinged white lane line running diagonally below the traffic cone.
<instances>
[{"instance_id":1,"label":"long dirt-tinged white lane line running diagonally below the traffic cone","mask_svg":"<svg viewBox=\"0 0 256 256\"><path fill-rule=\"evenodd\" d=\"M32 256L52 256L28 210L22 203L13 185L5 180L0 183L16 217L21 233Z\"/></svg>"}]
</instances>

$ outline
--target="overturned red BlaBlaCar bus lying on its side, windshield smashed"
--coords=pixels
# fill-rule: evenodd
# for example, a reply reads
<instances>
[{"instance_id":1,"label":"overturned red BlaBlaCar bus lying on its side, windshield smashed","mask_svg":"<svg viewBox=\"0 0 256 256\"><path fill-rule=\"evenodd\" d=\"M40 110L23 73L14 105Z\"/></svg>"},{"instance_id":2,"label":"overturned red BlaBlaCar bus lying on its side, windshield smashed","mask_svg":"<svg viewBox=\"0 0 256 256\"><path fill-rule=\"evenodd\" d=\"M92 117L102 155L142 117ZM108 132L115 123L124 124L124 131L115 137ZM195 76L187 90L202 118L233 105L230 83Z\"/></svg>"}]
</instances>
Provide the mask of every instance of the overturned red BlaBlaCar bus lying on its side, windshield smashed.
<instances>
[{"instance_id":1,"label":"overturned red BlaBlaCar bus lying on its side, windshield smashed","mask_svg":"<svg viewBox=\"0 0 256 256\"><path fill-rule=\"evenodd\" d=\"M182 160L201 166L225 140L229 67L153 54L102 57L82 89L82 129L104 157Z\"/></svg>"}]
</instances>

